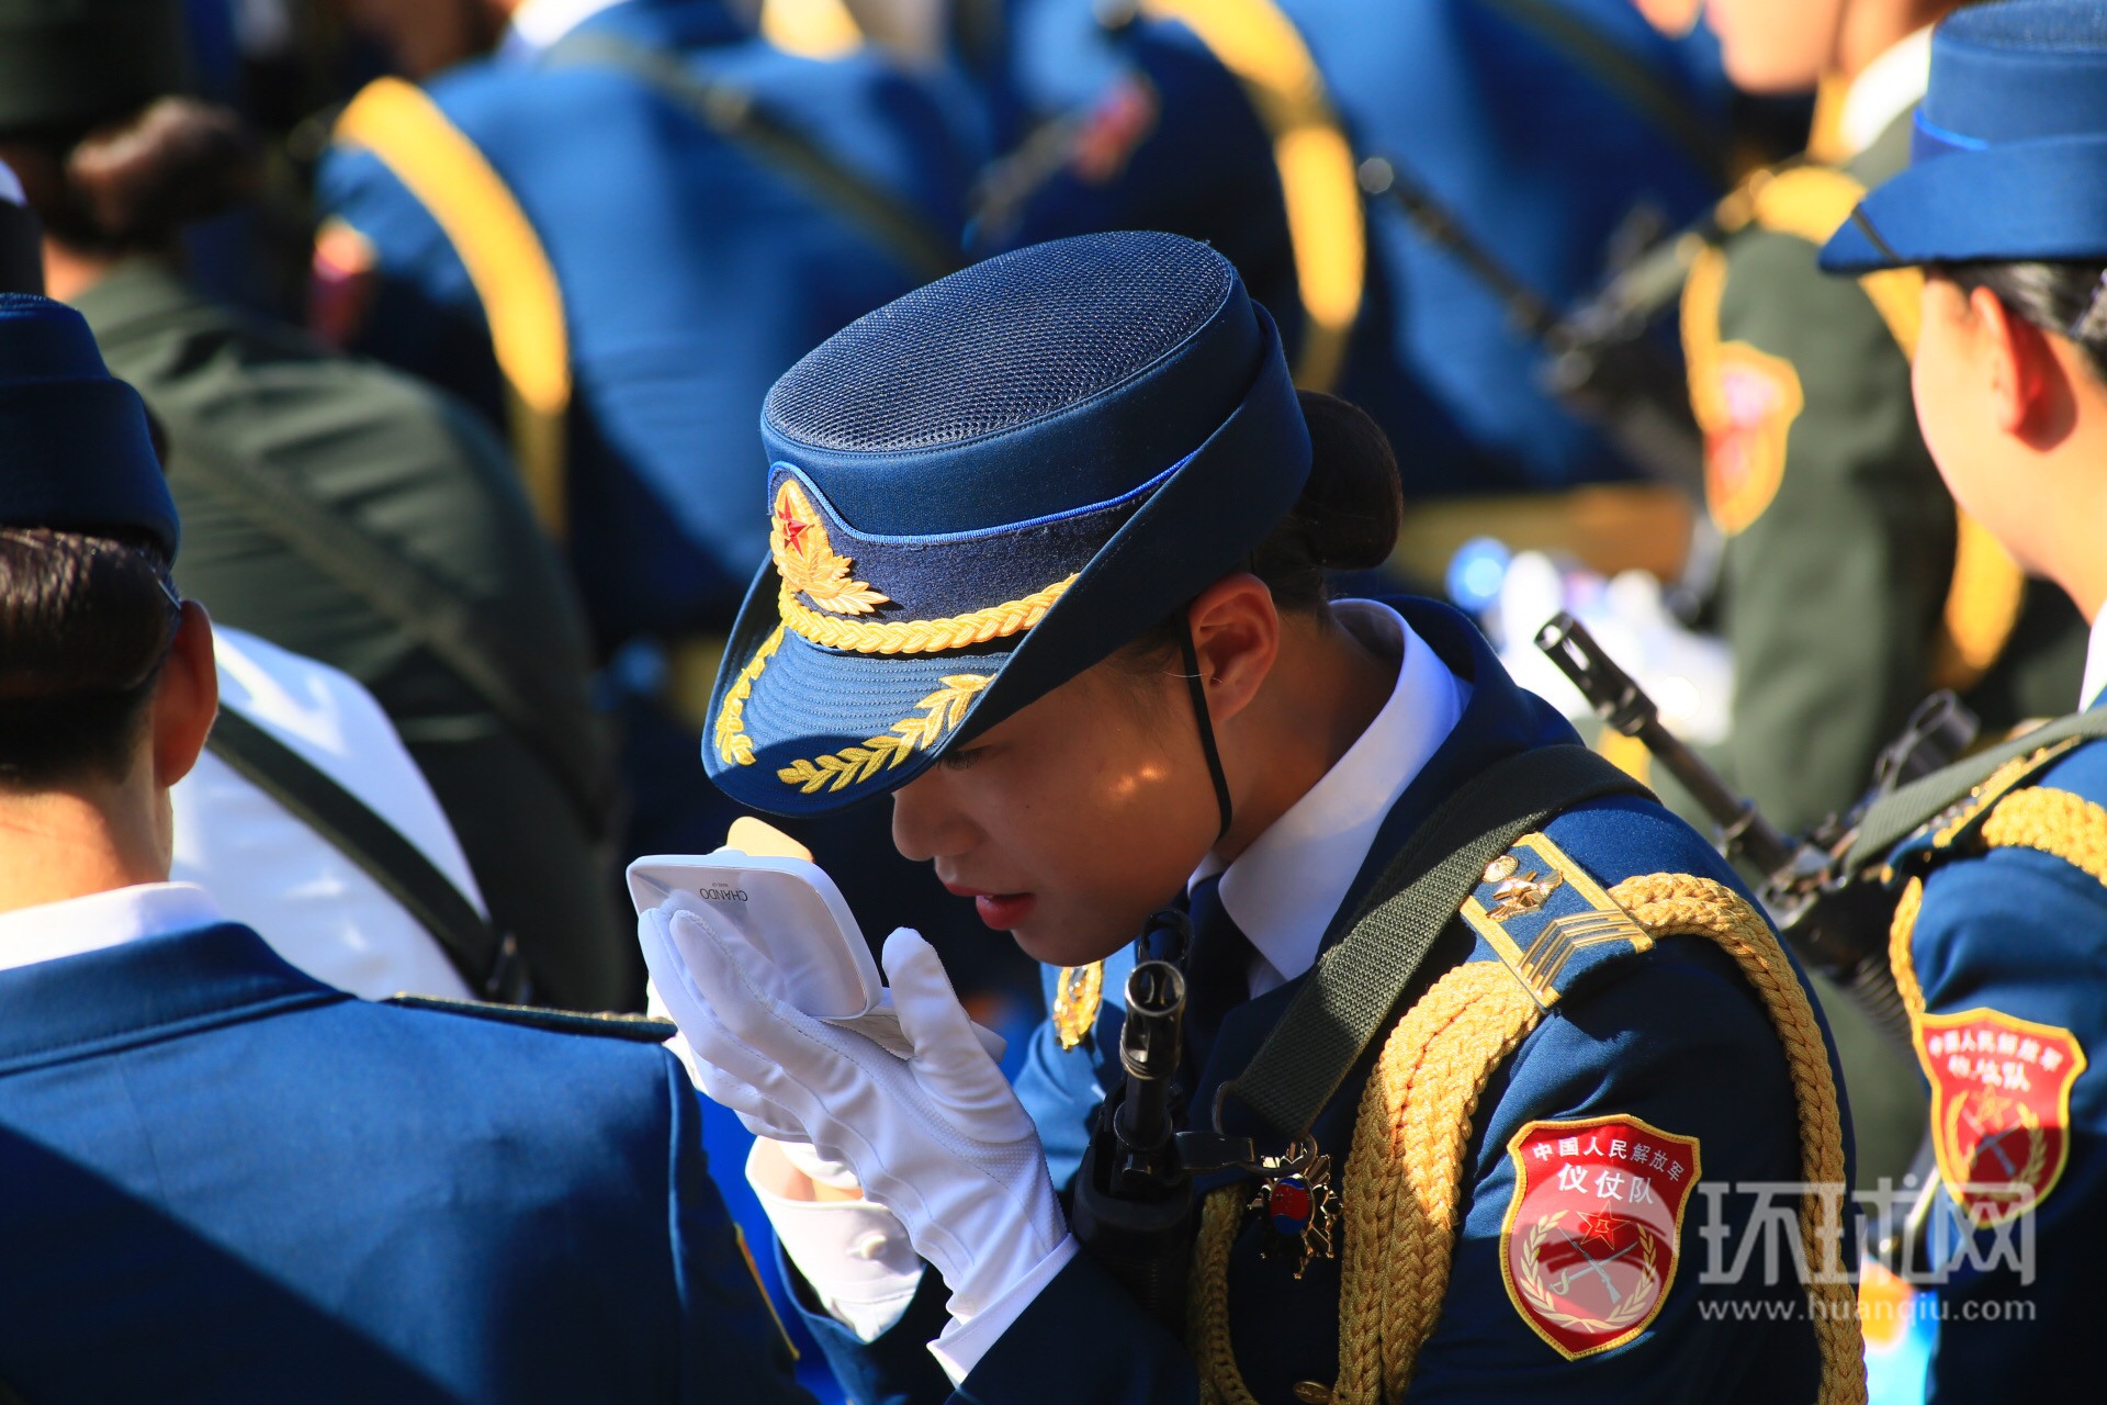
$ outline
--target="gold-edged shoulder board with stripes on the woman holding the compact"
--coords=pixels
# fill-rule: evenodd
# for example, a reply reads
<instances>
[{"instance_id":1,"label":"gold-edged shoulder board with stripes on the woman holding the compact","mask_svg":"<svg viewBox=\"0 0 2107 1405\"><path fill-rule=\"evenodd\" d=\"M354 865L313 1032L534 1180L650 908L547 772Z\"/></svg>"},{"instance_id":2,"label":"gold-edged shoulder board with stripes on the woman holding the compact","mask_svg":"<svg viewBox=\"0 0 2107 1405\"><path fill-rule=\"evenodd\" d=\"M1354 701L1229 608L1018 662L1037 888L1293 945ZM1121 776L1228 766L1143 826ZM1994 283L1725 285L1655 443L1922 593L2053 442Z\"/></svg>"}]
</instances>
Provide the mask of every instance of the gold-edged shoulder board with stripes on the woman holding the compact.
<instances>
[{"instance_id":1,"label":"gold-edged shoulder board with stripes on the woman holding the compact","mask_svg":"<svg viewBox=\"0 0 2107 1405\"><path fill-rule=\"evenodd\" d=\"M1639 921L1547 834L1523 834L1488 864L1462 918L1544 1009L1654 948Z\"/></svg>"}]
</instances>

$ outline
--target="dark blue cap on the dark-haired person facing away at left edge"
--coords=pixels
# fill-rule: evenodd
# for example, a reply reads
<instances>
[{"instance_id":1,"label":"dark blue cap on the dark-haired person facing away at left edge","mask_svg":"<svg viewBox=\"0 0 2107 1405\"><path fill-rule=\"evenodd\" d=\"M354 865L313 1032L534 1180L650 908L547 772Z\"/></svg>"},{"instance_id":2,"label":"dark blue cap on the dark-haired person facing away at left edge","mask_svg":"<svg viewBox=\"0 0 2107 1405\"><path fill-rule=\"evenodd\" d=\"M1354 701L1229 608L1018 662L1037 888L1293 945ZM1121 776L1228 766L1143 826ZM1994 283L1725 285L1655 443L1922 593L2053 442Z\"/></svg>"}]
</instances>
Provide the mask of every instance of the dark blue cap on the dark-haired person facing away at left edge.
<instances>
[{"instance_id":1,"label":"dark blue cap on the dark-haired person facing away at left edge","mask_svg":"<svg viewBox=\"0 0 2107 1405\"><path fill-rule=\"evenodd\" d=\"M175 556L175 501L145 404L65 303L0 293L0 525L129 527Z\"/></svg>"}]
</instances>

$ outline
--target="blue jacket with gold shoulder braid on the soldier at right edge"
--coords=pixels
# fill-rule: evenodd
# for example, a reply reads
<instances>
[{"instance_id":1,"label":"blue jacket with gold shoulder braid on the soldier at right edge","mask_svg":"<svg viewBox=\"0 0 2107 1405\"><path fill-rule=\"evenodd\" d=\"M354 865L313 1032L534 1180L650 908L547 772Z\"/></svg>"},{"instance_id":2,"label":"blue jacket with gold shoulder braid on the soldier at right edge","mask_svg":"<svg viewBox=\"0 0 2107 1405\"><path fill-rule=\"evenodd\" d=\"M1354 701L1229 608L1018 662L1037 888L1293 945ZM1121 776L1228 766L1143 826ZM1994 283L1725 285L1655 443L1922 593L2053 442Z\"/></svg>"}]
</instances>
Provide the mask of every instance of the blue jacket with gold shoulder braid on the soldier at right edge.
<instances>
[{"instance_id":1,"label":"blue jacket with gold shoulder braid on the soldier at right edge","mask_svg":"<svg viewBox=\"0 0 2107 1405\"><path fill-rule=\"evenodd\" d=\"M2080 1399L2107 1314L2107 744L2082 744L1934 819L1894 866L1924 878L1905 971L1949 1188L1993 1224L1932 1234L1930 1399ZM1951 828L1949 828L1951 826ZM2090 845L2090 851L2088 851ZM2061 849L2061 853L2056 853ZM2031 1123L2031 1125L2029 1125ZM2006 1209L2027 1184L2033 1209ZM2027 1224L2031 1220L2033 1224ZM1941 1283L1943 1281L1943 1283Z\"/></svg>"}]
</instances>

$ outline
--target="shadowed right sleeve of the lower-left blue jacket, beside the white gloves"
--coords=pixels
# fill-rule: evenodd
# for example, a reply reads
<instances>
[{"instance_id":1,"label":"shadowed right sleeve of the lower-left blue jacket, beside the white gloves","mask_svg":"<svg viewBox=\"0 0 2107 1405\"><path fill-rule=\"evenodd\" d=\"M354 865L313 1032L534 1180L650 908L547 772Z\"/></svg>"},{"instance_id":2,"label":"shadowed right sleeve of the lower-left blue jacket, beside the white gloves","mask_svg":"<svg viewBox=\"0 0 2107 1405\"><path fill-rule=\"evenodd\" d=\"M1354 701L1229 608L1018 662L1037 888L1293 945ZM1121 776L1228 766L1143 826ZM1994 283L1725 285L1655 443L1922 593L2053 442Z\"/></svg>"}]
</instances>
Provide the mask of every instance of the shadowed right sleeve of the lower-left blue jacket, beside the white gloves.
<instances>
[{"instance_id":1,"label":"shadowed right sleeve of the lower-left blue jacket, beside the white gloves","mask_svg":"<svg viewBox=\"0 0 2107 1405\"><path fill-rule=\"evenodd\" d=\"M672 1106L668 1228L681 1310L681 1399L693 1405L811 1405L792 1378L790 1342L761 1289L761 1274L710 1180L695 1089L670 1053L666 1097Z\"/></svg>"}]
</instances>

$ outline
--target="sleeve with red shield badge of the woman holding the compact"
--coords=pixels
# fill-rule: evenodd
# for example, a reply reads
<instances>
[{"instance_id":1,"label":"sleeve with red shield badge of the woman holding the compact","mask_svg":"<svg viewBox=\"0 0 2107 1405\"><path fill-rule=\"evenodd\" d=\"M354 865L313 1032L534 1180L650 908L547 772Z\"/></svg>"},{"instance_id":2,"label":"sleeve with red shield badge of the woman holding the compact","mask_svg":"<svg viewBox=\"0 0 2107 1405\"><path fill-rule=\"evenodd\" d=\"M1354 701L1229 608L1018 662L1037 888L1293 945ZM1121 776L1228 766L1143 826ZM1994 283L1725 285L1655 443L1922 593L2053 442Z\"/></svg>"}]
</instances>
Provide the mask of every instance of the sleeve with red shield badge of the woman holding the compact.
<instances>
[{"instance_id":1,"label":"sleeve with red shield badge of the woman holding the compact","mask_svg":"<svg viewBox=\"0 0 2107 1405\"><path fill-rule=\"evenodd\" d=\"M1820 1361L1791 1260L1801 1205L1793 1085L1778 1034L1721 950L1702 937L1671 937L1639 969L1553 1009L1479 1106L1490 1114L1479 1119L1450 1291L1420 1352L1414 1401L1816 1397ZM1538 1291L1551 1289L1568 1317L1616 1319L1622 1304L1584 1253L1606 1258L1622 1239L1580 1251L1570 1241L1561 1247L1561 1230L1597 1211L1633 1213L1637 1167L1629 1146L1622 1159L1568 1161L1563 1140L1523 1133L1540 1121L1580 1123L1576 1150L1584 1154L1593 1119L1667 1133L1658 1142L1669 1148L1669 1167L1690 1140L1698 1171L1683 1192L1673 1264L1656 1264L1669 1274L1658 1310L1639 1319L1646 1327L1637 1338L1608 1350L1568 1340L1578 1350L1568 1359L1538 1331L1559 1335L1559 1323L1544 1323L1528 1293L1511 1287L1513 1262L1538 1264ZM1530 1152L1544 1146L1540 1156L1525 1152L1523 1196L1509 1152L1517 1137ZM1616 1142L1606 1150L1616 1152ZM1673 1194L1671 1175L1654 1169L1660 1165L1648 1167L1654 1199ZM1561 1192L1557 1178L1572 1171L1574 1188ZM1530 1234L1561 1209L1566 1220L1530 1251ZM1854 1264L1848 1243L1844 1262ZM1620 1287L1633 1291L1629 1281Z\"/></svg>"}]
</instances>

